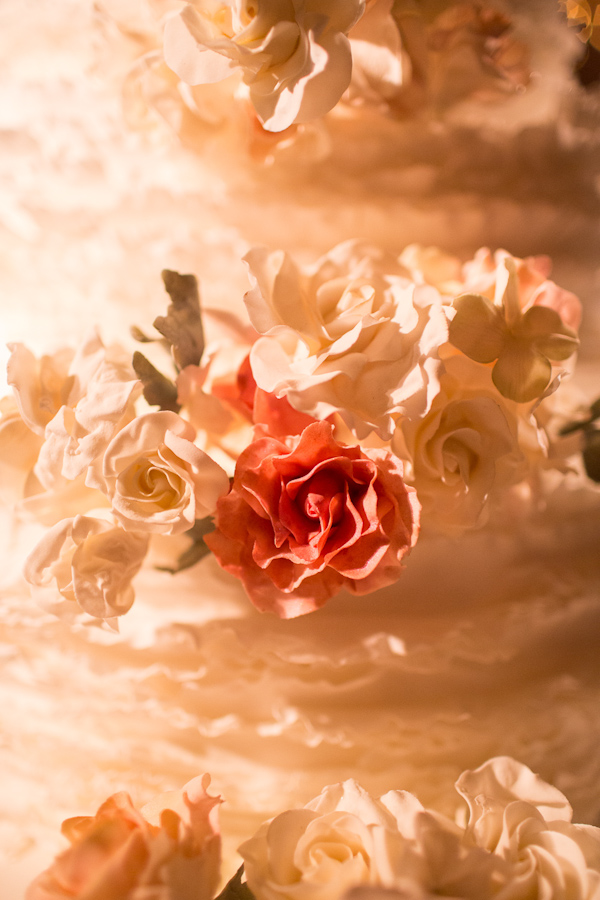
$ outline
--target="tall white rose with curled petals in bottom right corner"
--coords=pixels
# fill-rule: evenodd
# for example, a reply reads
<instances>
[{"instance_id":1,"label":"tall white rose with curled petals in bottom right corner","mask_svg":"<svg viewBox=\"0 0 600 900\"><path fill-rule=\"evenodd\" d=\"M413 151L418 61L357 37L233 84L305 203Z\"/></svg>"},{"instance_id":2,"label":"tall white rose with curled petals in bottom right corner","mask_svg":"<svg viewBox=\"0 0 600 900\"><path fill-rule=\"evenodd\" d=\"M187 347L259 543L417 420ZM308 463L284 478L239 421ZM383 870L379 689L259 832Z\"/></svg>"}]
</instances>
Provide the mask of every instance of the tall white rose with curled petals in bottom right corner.
<instances>
[{"instance_id":1,"label":"tall white rose with curled petals in bottom right corner","mask_svg":"<svg viewBox=\"0 0 600 900\"><path fill-rule=\"evenodd\" d=\"M509 865L502 900L600 896L600 829L571 824L566 797L530 769L497 757L464 772L467 837Z\"/></svg>"}]
</instances>

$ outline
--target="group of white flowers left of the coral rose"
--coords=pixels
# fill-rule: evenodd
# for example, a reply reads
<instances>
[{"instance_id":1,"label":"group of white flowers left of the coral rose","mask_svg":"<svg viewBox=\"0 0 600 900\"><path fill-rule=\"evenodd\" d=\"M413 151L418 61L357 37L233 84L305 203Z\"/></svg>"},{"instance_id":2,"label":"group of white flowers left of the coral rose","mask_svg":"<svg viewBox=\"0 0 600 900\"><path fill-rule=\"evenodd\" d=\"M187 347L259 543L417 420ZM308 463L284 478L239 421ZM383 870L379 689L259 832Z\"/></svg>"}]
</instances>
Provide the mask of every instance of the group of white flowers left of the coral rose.
<instances>
[{"instance_id":1,"label":"group of white flowers left of the coral rose","mask_svg":"<svg viewBox=\"0 0 600 900\"><path fill-rule=\"evenodd\" d=\"M166 321L177 358L193 323L175 314ZM10 349L3 493L12 492L21 516L49 526L25 577L114 624L133 603L150 536L188 531L213 513L228 476L195 443L189 421L172 409L140 409L143 374L96 333L76 353L36 359L21 344Z\"/></svg>"}]
</instances>

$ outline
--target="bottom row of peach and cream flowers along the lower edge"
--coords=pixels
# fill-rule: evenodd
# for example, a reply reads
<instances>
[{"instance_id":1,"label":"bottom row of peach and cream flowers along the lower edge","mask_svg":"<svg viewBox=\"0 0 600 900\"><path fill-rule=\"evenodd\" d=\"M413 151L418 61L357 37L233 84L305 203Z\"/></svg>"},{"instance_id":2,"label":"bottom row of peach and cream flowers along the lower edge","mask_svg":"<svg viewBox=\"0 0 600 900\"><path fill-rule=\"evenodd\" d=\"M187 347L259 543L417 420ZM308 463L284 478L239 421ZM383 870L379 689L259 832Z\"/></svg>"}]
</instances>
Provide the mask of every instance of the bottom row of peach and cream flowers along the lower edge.
<instances>
[{"instance_id":1,"label":"bottom row of peach and cream flowers along the lower edge","mask_svg":"<svg viewBox=\"0 0 600 900\"><path fill-rule=\"evenodd\" d=\"M218 798L208 776L140 812L116 794L95 817L70 819L71 847L31 885L27 900L119 897L211 900L219 882ZM528 897L593 900L600 829L572 823L564 795L530 769L497 757L456 783L466 825L412 794L371 797L355 781L326 787L265 822L239 848L241 871L223 900Z\"/></svg>"}]
</instances>

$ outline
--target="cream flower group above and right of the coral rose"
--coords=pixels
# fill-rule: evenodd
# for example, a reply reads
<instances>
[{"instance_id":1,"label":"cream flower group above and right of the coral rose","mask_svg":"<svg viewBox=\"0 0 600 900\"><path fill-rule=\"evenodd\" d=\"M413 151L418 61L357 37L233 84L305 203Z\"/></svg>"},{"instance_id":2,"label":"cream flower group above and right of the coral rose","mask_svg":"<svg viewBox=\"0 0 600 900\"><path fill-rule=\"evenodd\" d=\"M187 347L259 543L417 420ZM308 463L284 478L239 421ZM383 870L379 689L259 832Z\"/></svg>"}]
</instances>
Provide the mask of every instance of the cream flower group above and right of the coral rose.
<instances>
[{"instance_id":1,"label":"cream flower group above and right of the coral rose","mask_svg":"<svg viewBox=\"0 0 600 900\"><path fill-rule=\"evenodd\" d=\"M404 462L422 521L459 534L545 452L535 409L577 347L577 298L546 258L348 242L310 269L246 257L258 386ZM381 445L381 443L379 444Z\"/></svg>"}]
</instances>

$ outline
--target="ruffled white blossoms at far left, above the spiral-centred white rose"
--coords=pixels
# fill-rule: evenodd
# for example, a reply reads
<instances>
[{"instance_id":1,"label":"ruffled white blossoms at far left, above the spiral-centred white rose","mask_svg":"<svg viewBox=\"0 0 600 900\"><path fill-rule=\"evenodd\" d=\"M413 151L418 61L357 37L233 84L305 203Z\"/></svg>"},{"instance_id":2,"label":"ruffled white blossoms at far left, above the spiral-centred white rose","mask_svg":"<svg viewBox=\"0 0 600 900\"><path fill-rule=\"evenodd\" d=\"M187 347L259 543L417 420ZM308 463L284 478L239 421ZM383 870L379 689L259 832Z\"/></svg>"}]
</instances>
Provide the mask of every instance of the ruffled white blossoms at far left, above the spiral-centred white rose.
<instances>
[{"instance_id":1,"label":"ruffled white blossoms at far left, above the spiral-centred white rose","mask_svg":"<svg viewBox=\"0 0 600 900\"><path fill-rule=\"evenodd\" d=\"M71 358L70 351L36 360L11 345L8 381L24 422L44 443L35 474L47 490L83 475L116 431L133 415L140 382L118 352L96 332Z\"/></svg>"}]
</instances>

